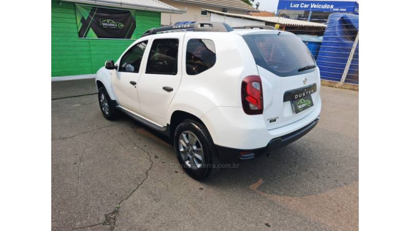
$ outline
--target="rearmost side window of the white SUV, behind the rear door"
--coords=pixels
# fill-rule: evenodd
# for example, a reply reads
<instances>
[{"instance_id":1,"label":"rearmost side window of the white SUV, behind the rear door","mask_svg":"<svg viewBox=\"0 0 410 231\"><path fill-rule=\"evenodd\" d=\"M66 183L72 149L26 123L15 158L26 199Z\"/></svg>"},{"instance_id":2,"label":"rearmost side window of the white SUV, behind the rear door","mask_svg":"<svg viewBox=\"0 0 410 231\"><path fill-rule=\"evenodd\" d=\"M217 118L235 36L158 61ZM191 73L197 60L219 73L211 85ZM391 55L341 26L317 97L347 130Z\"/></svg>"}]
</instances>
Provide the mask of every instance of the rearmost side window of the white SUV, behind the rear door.
<instances>
[{"instance_id":1,"label":"rearmost side window of the white SUV, behind the rear door","mask_svg":"<svg viewBox=\"0 0 410 231\"><path fill-rule=\"evenodd\" d=\"M215 44L212 40L191 38L187 44L187 74L195 75L215 65Z\"/></svg>"}]
</instances>

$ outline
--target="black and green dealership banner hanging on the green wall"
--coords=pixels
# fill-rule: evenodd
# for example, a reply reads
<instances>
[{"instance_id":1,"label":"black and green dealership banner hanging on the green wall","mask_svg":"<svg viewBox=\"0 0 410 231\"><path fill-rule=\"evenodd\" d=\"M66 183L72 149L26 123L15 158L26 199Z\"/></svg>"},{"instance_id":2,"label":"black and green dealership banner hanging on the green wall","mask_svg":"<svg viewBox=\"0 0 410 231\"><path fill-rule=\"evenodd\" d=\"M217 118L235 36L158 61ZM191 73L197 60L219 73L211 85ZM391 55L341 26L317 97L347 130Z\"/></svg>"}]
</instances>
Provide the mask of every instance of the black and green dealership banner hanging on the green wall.
<instances>
[{"instance_id":1,"label":"black and green dealership banner hanging on the green wall","mask_svg":"<svg viewBox=\"0 0 410 231\"><path fill-rule=\"evenodd\" d=\"M135 10L75 5L78 37L136 39Z\"/></svg>"}]
</instances>

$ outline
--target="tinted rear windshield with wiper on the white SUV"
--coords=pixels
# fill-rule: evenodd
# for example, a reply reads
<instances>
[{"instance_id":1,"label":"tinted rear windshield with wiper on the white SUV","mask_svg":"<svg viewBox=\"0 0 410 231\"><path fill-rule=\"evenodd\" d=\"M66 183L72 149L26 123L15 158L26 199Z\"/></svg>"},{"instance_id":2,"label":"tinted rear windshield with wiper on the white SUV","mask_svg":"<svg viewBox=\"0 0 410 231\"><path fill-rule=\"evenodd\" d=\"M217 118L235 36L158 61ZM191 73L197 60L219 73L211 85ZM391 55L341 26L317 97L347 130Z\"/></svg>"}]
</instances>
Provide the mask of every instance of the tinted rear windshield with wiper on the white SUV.
<instances>
[{"instance_id":1,"label":"tinted rear windshield with wiper on the white SUV","mask_svg":"<svg viewBox=\"0 0 410 231\"><path fill-rule=\"evenodd\" d=\"M312 53L299 37L293 34L243 35L257 65L279 76L312 72L315 68L298 71L315 65Z\"/></svg>"}]
</instances>

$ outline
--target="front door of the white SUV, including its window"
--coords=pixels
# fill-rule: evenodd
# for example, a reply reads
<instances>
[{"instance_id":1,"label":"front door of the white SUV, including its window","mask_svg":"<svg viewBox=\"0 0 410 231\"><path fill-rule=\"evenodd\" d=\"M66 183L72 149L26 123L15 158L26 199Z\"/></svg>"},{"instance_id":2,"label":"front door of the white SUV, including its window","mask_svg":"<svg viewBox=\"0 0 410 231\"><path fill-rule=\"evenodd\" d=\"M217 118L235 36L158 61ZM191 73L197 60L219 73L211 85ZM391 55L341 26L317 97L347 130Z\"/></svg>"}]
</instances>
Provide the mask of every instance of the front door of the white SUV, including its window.
<instances>
[{"instance_id":1,"label":"front door of the white SUV, including its window","mask_svg":"<svg viewBox=\"0 0 410 231\"><path fill-rule=\"evenodd\" d=\"M140 109L137 83L141 75L140 67L147 44L148 40L137 43L129 48L121 56L118 71L113 70L114 73L112 75L112 85L117 103L134 112Z\"/></svg>"}]
</instances>

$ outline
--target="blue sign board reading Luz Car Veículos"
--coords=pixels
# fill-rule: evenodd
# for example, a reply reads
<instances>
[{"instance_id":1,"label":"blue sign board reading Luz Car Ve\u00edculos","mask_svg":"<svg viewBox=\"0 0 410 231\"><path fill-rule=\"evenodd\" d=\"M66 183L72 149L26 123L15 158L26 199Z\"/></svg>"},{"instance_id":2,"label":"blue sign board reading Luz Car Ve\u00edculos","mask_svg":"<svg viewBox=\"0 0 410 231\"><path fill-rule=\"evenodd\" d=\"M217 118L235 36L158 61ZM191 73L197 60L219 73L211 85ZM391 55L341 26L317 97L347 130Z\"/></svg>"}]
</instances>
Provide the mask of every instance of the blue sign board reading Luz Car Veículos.
<instances>
[{"instance_id":1,"label":"blue sign board reading Luz Car Ve\u00edculos","mask_svg":"<svg viewBox=\"0 0 410 231\"><path fill-rule=\"evenodd\" d=\"M357 2L279 0L278 10L308 10L321 12L359 12Z\"/></svg>"}]
</instances>

